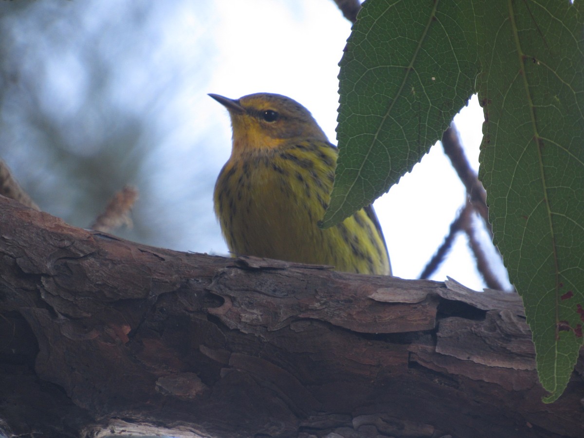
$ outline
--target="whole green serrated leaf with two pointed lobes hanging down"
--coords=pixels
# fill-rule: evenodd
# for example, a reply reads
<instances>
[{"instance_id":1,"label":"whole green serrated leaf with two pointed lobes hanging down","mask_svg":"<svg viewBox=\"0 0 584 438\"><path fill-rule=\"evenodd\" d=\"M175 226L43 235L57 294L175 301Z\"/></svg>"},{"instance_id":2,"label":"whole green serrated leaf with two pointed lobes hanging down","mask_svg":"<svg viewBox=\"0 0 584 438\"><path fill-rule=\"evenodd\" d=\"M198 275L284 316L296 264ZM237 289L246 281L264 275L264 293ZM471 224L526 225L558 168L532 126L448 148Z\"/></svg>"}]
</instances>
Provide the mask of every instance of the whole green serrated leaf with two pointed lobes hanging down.
<instances>
[{"instance_id":1,"label":"whole green serrated leaf with two pointed lobes hanging down","mask_svg":"<svg viewBox=\"0 0 584 438\"><path fill-rule=\"evenodd\" d=\"M340 156L324 226L411 170L478 91L495 244L523 297L544 401L554 401L584 339L581 2L368 0L340 67Z\"/></svg>"}]
</instances>

